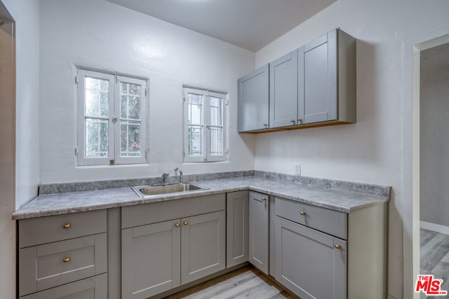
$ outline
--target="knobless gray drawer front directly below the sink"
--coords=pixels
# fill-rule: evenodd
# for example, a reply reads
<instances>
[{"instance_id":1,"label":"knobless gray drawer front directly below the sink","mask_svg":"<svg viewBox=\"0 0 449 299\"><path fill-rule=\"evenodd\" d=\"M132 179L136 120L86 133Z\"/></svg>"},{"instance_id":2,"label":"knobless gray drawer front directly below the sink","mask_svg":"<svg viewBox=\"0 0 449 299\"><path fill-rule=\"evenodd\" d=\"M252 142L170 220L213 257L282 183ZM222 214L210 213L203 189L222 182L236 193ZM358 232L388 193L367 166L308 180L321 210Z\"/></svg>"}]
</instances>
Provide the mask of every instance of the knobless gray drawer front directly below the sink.
<instances>
[{"instance_id":1,"label":"knobless gray drawer front directly below the sink","mask_svg":"<svg viewBox=\"0 0 449 299\"><path fill-rule=\"evenodd\" d=\"M133 228L225 209L225 193L122 207L121 228Z\"/></svg>"}]
</instances>

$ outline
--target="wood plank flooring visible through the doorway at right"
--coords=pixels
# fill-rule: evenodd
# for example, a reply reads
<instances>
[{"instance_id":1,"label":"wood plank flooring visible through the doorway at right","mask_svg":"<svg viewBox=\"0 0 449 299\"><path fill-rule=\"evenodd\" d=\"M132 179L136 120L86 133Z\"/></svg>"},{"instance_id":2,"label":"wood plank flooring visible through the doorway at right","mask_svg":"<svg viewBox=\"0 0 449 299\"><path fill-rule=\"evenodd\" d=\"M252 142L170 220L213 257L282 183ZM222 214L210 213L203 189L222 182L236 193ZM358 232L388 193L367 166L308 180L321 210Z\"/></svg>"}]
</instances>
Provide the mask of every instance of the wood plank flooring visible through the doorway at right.
<instances>
[{"instance_id":1,"label":"wood plank flooring visible through the doorway at right","mask_svg":"<svg viewBox=\"0 0 449 299\"><path fill-rule=\"evenodd\" d=\"M441 289L449 291L449 235L420 229L420 274L434 274L435 278L443 279ZM421 298L441 298L441 296L426 296Z\"/></svg>"}]
</instances>

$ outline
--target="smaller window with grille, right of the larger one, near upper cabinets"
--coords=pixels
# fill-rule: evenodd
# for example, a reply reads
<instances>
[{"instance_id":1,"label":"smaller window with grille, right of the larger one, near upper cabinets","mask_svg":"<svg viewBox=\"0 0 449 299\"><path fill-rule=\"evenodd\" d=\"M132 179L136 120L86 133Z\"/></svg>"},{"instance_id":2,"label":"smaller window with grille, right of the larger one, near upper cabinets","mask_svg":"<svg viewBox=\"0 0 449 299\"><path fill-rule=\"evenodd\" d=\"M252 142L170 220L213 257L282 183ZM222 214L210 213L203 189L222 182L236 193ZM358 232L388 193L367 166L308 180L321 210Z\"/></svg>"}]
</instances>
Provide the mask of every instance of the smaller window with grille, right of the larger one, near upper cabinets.
<instances>
[{"instance_id":1,"label":"smaller window with grille, right of the larger one, near upper cabinets","mask_svg":"<svg viewBox=\"0 0 449 299\"><path fill-rule=\"evenodd\" d=\"M185 162L227 159L226 98L220 92L184 88Z\"/></svg>"}]
</instances>

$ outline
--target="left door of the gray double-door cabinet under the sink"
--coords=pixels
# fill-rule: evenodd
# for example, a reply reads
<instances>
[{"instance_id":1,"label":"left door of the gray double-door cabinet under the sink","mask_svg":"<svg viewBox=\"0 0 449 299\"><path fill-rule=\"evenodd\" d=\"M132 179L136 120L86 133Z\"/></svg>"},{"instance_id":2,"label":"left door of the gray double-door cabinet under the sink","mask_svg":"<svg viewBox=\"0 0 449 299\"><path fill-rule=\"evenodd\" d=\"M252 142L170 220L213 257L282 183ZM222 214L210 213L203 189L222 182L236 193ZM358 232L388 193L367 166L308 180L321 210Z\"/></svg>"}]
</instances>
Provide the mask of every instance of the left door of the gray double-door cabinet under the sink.
<instances>
[{"instance_id":1,"label":"left door of the gray double-door cabinet under the sink","mask_svg":"<svg viewBox=\"0 0 449 299\"><path fill-rule=\"evenodd\" d=\"M121 232L121 298L144 299L180 286L180 220Z\"/></svg>"}]
</instances>

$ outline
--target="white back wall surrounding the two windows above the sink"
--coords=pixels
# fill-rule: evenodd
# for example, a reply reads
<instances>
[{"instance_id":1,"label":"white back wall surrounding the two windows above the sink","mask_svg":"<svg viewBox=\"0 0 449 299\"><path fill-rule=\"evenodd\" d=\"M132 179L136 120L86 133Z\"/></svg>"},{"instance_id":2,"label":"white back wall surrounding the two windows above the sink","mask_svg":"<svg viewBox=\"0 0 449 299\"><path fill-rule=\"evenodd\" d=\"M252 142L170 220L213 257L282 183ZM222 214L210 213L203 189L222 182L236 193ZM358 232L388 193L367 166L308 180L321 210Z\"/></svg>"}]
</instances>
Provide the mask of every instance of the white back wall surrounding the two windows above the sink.
<instances>
[{"instance_id":1,"label":"white back wall surrounding the two windows above the sink","mask_svg":"<svg viewBox=\"0 0 449 299\"><path fill-rule=\"evenodd\" d=\"M42 183L254 168L254 137L236 133L253 52L105 0L42 0L40 29ZM76 167L74 64L149 78L149 165ZM229 162L183 164L183 84L229 92Z\"/></svg>"}]
</instances>

